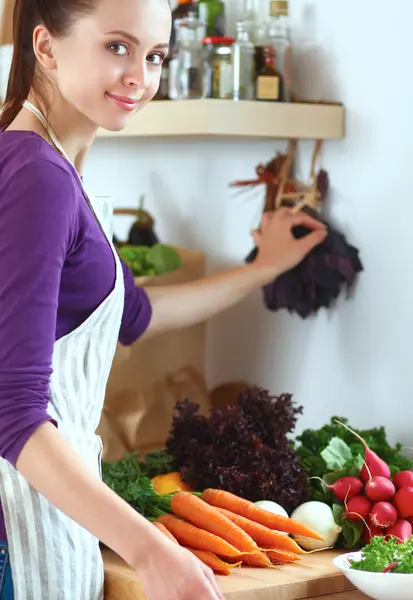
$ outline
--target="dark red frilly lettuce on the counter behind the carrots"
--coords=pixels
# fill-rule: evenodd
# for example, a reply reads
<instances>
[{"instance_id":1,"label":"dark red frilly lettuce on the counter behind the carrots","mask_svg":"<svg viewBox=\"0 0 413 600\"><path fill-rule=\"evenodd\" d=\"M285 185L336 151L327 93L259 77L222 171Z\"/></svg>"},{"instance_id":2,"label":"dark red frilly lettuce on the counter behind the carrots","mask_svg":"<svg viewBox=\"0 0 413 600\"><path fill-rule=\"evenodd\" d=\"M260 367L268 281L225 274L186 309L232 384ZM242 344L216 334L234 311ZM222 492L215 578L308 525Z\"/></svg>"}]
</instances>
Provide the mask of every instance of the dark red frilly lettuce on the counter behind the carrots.
<instances>
[{"instance_id":1,"label":"dark red frilly lettuce on the counter behind the carrots","mask_svg":"<svg viewBox=\"0 0 413 600\"><path fill-rule=\"evenodd\" d=\"M258 387L241 392L235 405L213 409L209 418L185 400L176 405L166 450L194 489L273 500L291 512L309 499L306 474L287 437L301 412L290 394L272 397Z\"/></svg>"}]
</instances>

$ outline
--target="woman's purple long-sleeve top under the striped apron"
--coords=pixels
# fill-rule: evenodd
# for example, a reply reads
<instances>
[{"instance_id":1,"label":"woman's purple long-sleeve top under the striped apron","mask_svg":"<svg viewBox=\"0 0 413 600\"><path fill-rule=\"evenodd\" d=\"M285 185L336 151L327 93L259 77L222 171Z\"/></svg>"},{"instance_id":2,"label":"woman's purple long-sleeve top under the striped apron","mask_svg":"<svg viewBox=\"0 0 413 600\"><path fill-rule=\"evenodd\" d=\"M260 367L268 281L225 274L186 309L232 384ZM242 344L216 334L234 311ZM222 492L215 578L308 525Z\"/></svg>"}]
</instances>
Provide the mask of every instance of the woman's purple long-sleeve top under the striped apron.
<instances>
[{"instance_id":1,"label":"woman's purple long-sleeve top under the striped apron","mask_svg":"<svg viewBox=\"0 0 413 600\"><path fill-rule=\"evenodd\" d=\"M119 341L128 345L147 328L151 306L122 267ZM15 465L29 437L51 420L55 341L92 314L116 275L72 165L34 132L0 134L0 274L0 456Z\"/></svg>"}]
</instances>

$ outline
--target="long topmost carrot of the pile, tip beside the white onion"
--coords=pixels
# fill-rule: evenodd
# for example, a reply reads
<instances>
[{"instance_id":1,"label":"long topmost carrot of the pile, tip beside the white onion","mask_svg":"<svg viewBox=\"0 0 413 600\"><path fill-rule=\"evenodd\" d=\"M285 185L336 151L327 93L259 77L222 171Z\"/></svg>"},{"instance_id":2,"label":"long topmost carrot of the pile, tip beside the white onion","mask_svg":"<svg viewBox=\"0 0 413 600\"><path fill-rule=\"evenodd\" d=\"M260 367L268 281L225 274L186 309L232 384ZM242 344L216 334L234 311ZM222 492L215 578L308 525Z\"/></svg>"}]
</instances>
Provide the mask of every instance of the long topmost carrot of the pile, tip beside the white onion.
<instances>
[{"instance_id":1,"label":"long topmost carrot of the pile, tip beside the white onion","mask_svg":"<svg viewBox=\"0 0 413 600\"><path fill-rule=\"evenodd\" d=\"M324 541L318 533L306 525L302 525L301 523L298 523L298 521L290 519L289 517L276 515L268 510L259 508L253 502L245 500L244 498L239 498L230 492L209 488L202 492L201 498L212 506L226 508L235 514L246 517L247 519L251 519L251 521L265 525L269 529L277 529L278 531L295 533L297 535L313 538L315 540Z\"/></svg>"}]
</instances>

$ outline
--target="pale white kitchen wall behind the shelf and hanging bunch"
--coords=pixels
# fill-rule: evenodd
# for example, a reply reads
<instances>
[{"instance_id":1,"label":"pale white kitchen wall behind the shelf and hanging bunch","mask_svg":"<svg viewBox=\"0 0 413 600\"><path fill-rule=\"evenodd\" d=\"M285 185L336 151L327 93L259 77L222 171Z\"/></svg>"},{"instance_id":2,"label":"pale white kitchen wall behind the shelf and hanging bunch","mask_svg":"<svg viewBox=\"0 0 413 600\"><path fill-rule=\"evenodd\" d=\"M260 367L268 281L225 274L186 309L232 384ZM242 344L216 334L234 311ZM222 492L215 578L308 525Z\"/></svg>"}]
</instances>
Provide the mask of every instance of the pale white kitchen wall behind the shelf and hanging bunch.
<instances>
[{"instance_id":1,"label":"pale white kitchen wall behind the shelf and hanging bunch","mask_svg":"<svg viewBox=\"0 0 413 600\"><path fill-rule=\"evenodd\" d=\"M267 312L260 292L212 319L209 384L246 379L292 392L305 407L299 429L339 414L413 446L413 2L291 0L291 11L297 92L346 106L346 139L325 145L323 166L330 210L365 272L351 300L306 321ZM261 208L261 192L236 196L229 182L283 147L98 140L87 177L118 206L145 192L161 237L202 248L213 271L243 261ZM116 222L119 235L127 224Z\"/></svg>"}]
</instances>

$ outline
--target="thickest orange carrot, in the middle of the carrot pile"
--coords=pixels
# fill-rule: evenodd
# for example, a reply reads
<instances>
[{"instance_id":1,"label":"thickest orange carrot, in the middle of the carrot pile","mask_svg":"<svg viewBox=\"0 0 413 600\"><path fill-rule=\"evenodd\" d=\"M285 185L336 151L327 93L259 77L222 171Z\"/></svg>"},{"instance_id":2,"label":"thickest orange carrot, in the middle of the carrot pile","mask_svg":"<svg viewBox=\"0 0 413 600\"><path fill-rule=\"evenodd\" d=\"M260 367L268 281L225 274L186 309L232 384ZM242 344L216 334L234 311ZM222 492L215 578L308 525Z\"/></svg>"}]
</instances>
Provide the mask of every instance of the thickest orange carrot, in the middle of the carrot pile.
<instances>
[{"instance_id":1,"label":"thickest orange carrot, in the middle of the carrot pile","mask_svg":"<svg viewBox=\"0 0 413 600\"><path fill-rule=\"evenodd\" d=\"M256 552L258 546L241 527L218 509L189 492L178 492L171 499L172 512L188 523L218 535L241 552Z\"/></svg>"}]
</instances>

